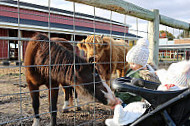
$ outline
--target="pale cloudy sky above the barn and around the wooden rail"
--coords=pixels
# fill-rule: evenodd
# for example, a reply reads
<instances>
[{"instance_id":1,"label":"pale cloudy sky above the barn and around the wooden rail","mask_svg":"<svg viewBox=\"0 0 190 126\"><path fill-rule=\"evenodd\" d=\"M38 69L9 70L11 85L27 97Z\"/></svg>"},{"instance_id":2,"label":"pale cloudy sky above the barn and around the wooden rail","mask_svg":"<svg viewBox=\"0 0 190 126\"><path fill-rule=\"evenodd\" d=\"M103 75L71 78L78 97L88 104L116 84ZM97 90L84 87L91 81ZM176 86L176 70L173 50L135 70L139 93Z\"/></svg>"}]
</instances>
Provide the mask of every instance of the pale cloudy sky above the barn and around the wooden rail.
<instances>
[{"instance_id":1,"label":"pale cloudy sky above the barn and around the wooden rail","mask_svg":"<svg viewBox=\"0 0 190 126\"><path fill-rule=\"evenodd\" d=\"M29 2L29 0L20 0ZM143 7L148 10L159 9L161 15L165 15L174 19L190 23L190 0L125 0L137 6ZM31 3L48 6L48 0L30 0ZM73 3L65 0L51 0L50 6L64 10L73 11ZM94 15L94 8L83 4L75 4L75 11ZM103 9L96 8L95 15L112 19L121 23L129 24L130 33L138 34L142 37L147 37L148 21L137 19L131 16L115 13ZM138 32L137 32L138 30ZM182 30L173 29L167 26L160 25L160 30L167 30L175 36L179 35Z\"/></svg>"}]
</instances>

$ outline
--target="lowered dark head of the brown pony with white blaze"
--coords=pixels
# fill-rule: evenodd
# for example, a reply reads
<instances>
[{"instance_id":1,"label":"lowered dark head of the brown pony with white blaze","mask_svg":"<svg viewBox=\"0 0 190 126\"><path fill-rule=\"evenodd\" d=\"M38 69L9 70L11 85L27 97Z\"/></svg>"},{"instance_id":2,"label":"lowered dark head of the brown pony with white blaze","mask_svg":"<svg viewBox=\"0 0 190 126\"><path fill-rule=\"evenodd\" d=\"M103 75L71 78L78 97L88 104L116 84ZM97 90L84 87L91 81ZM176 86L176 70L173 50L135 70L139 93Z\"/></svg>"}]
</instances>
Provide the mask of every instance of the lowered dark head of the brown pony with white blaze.
<instances>
[{"instance_id":1,"label":"lowered dark head of the brown pony with white blaze","mask_svg":"<svg viewBox=\"0 0 190 126\"><path fill-rule=\"evenodd\" d=\"M94 64L82 65L77 72L77 82L83 94L90 94L105 105L114 106L116 104L117 98L105 81L100 78Z\"/></svg>"}]
</instances>

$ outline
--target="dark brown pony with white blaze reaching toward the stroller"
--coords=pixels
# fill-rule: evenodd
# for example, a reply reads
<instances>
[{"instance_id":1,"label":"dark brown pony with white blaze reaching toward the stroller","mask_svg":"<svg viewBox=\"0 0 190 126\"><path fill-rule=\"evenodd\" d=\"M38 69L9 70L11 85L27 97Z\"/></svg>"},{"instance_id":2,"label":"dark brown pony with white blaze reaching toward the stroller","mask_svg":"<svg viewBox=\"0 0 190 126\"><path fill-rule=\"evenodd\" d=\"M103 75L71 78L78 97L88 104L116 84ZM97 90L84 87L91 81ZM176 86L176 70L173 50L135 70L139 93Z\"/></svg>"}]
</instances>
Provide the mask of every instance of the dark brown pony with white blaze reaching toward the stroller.
<instances>
[{"instance_id":1,"label":"dark brown pony with white blaze reaching toward the stroller","mask_svg":"<svg viewBox=\"0 0 190 126\"><path fill-rule=\"evenodd\" d=\"M82 95L94 97L97 101L106 105L114 106L116 104L117 99L111 89L101 80L99 74L94 74L94 65L88 64L85 59L74 54L68 48L71 47L69 42L60 44L52 39L50 43L52 65L49 70L48 42L49 38L47 35L37 34L28 43L25 52L26 80L35 114L33 126L40 125L38 90L41 85L46 85L49 89L51 126L56 125L57 99L60 84L62 86L74 86L76 84L77 93L80 92ZM50 79L51 81L49 81ZM67 88L65 88L65 91L67 91Z\"/></svg>"}]
</instances>

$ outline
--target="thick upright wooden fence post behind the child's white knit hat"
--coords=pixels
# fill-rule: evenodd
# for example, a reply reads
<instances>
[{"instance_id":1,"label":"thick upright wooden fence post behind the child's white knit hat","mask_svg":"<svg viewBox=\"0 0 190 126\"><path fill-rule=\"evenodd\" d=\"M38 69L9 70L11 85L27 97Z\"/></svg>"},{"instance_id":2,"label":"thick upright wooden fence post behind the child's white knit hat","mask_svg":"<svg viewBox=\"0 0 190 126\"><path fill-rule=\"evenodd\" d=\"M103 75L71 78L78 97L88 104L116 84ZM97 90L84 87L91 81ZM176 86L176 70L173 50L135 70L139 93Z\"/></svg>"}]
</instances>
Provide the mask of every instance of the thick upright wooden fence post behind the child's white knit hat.
<instances>
[{"instance_id":1,"label":"thick upright wooden fence post behind the child's white knit hat","mask_svg":"<svg viewBox=\"0 0 190 126\"><path fill-rule=\"evenodd\" d=\"M158 65L158 52L159 52L159 10L153 10L154 19L148 23L148 40L149 40L149 63Z\"/></svg>"}]
</instances>

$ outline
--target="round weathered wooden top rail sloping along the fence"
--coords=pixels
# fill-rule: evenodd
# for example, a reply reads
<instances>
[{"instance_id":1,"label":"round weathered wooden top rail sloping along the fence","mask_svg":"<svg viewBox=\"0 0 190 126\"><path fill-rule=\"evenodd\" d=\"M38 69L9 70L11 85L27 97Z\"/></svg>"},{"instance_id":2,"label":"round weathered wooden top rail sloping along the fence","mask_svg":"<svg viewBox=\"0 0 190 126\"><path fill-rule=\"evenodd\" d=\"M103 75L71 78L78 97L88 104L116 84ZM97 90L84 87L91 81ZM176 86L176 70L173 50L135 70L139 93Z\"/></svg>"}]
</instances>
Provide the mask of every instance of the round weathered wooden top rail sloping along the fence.
<instances>
[{"instance_id":1,"label":"round weathered wooden top rail sloping along the fence","mask_svg":"<svg viewBox=\"0 0 190 126\"><path fill-rule=\"evenodd\" d=\"M123 0L67 0L77 3L83 3L98 8L115 11L121 14L127 14L140 19L153 21L155 19L154 12L129 3ZM164 15L160 15L160 24L178 28L190 30L190 23L176 20Z\"/></svg>"}]
</instances>

